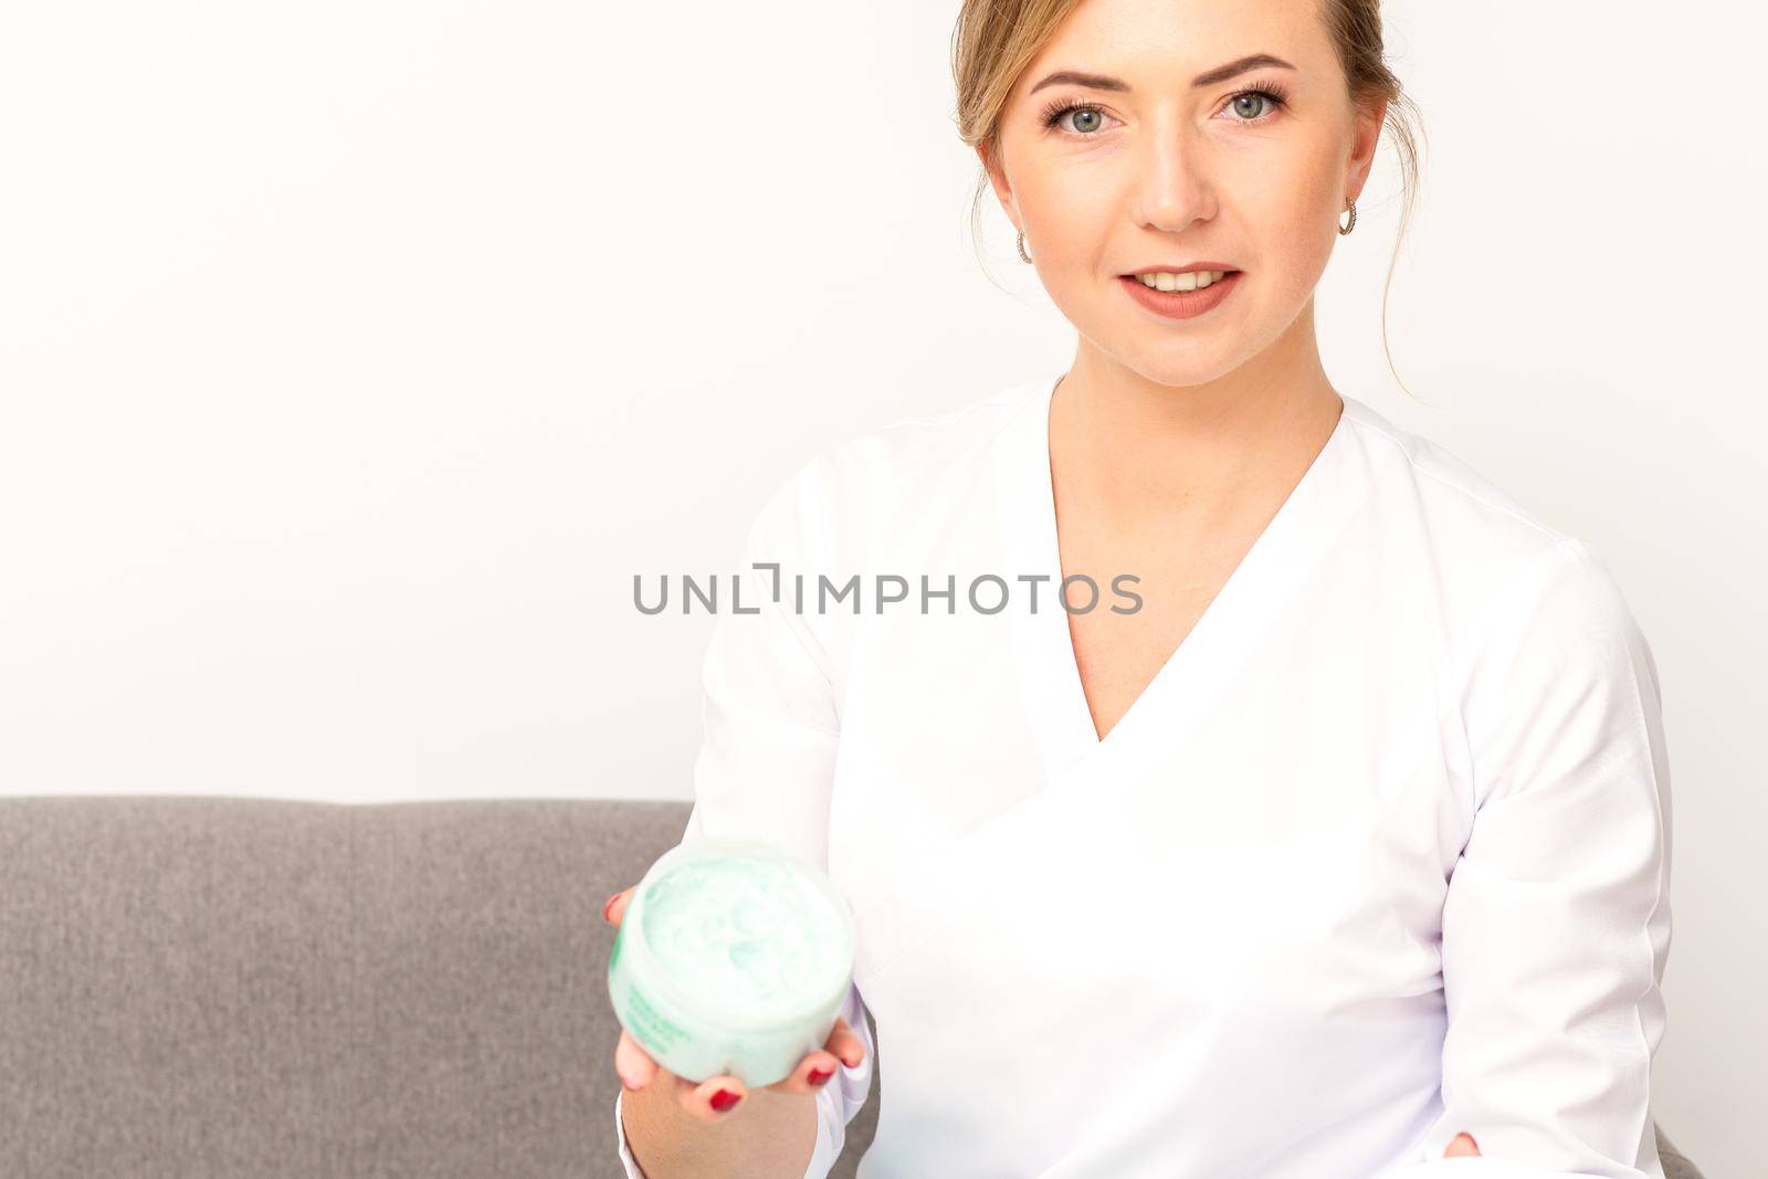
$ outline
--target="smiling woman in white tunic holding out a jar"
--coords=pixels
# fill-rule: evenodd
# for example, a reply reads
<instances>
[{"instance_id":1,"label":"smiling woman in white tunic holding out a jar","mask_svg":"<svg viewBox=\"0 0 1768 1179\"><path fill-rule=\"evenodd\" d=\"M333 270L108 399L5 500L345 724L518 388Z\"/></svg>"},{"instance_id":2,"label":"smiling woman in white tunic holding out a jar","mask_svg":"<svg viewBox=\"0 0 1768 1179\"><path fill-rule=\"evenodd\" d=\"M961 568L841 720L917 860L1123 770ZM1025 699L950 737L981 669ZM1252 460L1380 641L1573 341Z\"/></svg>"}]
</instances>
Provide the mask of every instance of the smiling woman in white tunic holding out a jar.
<instances>
[{"instance_id":1,"label":"smiling woman in white tunic holding out a jar","mask_svg":"<svg viewBox=\"0 0 1768 1179\"><path fill-rule=\"evenodd\" d=\"M622 1038L628 1174L826 1175L863 999L865 1179L1660 1177L1650 647L1315 346L1404 110L1377 0L969 0L955 49L1077 350L757 518L684 840L824 866L854 988L758 1092Z\"/></svg>"}]
</instances>

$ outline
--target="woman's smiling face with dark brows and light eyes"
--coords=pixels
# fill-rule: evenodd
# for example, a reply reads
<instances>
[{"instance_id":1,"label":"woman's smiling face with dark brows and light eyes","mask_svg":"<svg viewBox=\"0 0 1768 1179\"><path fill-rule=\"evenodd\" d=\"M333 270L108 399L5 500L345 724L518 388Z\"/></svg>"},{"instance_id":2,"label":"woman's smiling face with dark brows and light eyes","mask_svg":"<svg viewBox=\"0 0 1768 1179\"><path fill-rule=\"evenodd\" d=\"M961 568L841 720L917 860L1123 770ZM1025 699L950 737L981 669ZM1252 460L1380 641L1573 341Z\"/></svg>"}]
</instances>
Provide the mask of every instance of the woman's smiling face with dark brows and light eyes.
<instances>
[{"instance_id":1,"label":"woman's smiling face with dark brows and light eyes","mask_svg":"<svg viewBox=\"0 0 1768 1179\"><path fill-rule=\"evenodd\" d=\"M1312 332L1386 111L1358 118L1322 2L1084 0L1008 95L990 179L1025 253L1080 336L1151 380L1204 384ZM1232 69L1255 57L1282 64ZM1096 78L1048 80L1066 71ZM1195 262L1241 272L1195 318L1119 278Z\"/></svg>"}]
</instances>

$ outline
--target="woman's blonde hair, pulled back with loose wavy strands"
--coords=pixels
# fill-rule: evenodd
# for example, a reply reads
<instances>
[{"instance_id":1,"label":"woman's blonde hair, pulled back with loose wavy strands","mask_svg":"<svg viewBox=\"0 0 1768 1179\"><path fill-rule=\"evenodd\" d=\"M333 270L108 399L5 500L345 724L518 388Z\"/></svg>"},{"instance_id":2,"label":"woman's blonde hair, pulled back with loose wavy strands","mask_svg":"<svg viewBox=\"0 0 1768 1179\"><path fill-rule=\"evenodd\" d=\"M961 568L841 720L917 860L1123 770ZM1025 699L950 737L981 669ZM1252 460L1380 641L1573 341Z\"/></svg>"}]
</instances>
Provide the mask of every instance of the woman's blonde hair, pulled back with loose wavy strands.
<instances>
[{"instance_id":1,"label":"woman's blonde hair, pulled back with loose wavy strands","mask_svg":"<svg viewBox=\"0 0 1768 1179\"><path fill-rule=\"evenodd\" d=\"M1381 39L1381 0L1319 0L1326 32L1338 51L1345 88L1353 104L1388 103L1383 133L1393 140L1400 161L1400 179L1406 203L1400 214L1400 232L1388 260L1388 281L1381 290L1381 350L1393 369L1388 352L1388 286L1393 285L1393 265L1400 256L1406 228L1413 219L1418 198L1418 145L1423 138L1423 120L1400 80L1388 69ZM964 0L958 23L951 30L951 80L958 92L958 138L981 148L988 161L999 157L1001 111L1006 95L1018 76L1038 57L1055 27L1080 5L1080 0ZM1414 131L1416 127L1416 131ZM976 179L971 200L971 237L981 237L983 196L988 193L988 170ZM1398 369L1393 371L1398 380ZM1406 382L1400 382L1406 387ZM1411 392L1411 391L1407 391Z\"/></svg>"}]
</instances>

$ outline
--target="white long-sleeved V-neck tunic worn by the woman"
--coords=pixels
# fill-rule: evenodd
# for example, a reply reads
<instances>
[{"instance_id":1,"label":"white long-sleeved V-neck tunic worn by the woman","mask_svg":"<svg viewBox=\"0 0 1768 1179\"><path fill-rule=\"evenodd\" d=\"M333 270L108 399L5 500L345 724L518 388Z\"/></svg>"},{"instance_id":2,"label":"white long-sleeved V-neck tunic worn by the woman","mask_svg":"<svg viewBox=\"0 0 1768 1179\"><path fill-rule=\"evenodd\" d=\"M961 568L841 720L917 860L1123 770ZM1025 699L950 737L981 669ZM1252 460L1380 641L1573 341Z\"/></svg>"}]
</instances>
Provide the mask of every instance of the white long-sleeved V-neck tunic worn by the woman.
<instances>
[{"instance_id":1,"label":"white long-sleeved V-neck tunic worn by the woman","mask_svg":"<svg viewBox=\"0 0 1768 1179\"><path fill-rule=\"evenodd\" d=\"M682 838L804 856L857 928L806 1179L868 1096L861 1179L1662 1179L1669 764L1602 559L1344 396L1100 739L1057 378L817 454L720 605Z\"/></svg>"}]
</instances>

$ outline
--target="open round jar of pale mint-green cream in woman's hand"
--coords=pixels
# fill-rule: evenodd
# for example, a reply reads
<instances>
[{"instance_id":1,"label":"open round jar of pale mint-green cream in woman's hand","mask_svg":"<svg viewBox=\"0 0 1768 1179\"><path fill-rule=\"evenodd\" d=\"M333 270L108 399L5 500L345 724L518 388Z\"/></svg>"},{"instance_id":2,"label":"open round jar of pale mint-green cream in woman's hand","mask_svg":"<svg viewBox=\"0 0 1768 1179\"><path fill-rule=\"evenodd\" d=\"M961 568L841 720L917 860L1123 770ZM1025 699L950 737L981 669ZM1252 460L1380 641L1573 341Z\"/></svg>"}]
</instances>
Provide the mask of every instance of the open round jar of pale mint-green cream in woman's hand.
<instances>
[{"instance_id":1,"label":"open round jar of pale mint-green cream in woman's hand","mask_svg":"<svg viewBox=\"0 0 1768 1179\"><path fill-rule=\"evenodd\" d=\"M854 921L815 864L753 840L665 852L608 955L621 1027L691 1082L771 1085L822 1048L854 977Z\"/></svg>"}]
</instances>

